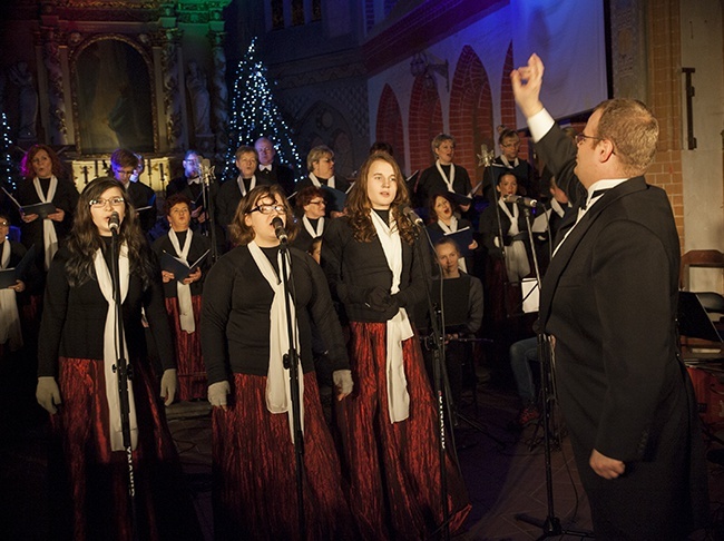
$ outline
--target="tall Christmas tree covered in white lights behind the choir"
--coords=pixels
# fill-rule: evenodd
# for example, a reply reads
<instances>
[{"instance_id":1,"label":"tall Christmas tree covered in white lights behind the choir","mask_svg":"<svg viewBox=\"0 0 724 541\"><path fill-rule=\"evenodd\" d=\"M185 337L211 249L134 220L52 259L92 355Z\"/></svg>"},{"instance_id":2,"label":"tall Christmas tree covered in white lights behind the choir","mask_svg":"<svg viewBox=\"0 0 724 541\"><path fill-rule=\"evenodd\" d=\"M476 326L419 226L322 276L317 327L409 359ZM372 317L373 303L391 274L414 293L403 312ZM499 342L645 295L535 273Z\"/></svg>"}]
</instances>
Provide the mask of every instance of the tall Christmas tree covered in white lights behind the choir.
<instances>
[{"instance_id":1,"label":"tall Christmas tree covered in white lights behind the choir","mask_svg":"<svg viewBox=\"0 0 724 541\"><path fill-rule=\"evenodd\" d=\"M237 176L236 149L254 146L260 137L268 137L276 148L276 160L300 171L302 160L292 140L292 130L274 102L266 67L256 59L256 38L238 63L229 120L229 146L226 150L224 178Z\"/></svg>"}]
</instances>

